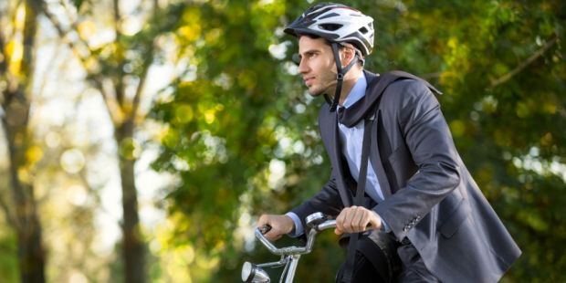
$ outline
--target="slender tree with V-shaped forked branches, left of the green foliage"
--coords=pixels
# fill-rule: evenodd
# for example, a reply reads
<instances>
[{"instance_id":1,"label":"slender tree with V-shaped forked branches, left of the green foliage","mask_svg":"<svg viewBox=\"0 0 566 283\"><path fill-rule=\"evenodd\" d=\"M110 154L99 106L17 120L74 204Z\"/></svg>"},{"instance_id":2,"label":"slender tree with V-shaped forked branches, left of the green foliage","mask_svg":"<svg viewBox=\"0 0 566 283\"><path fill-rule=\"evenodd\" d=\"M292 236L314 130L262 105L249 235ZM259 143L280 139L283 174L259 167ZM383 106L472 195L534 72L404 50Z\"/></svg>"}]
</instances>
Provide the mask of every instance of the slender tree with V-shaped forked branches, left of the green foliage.
<instances>
[{"instance_id":1,"label":"slender tree with V-shaped forked branches, left of the green foliage","mask_svg":"<svg viewBox=\"0 0 566 283\"><path fill-rule=\"evenodd\" d=\"M131 3L113 0L41 6L60 39L67 42L79 59L86 72L85 82L99 91L113 126L121 176L121 254L126 282L144 282L147 278L147 248L140 226L134 175L141 145L135 133L144 117L141 103L147 95L149 70L163 59L164 43L160 45L158 40L164 39L163 35L175 25L179 15L174 5L163 8L159 1L135 5L131 8ZM125 9L128 11L124 12ZM138 25L141 28L131 25L134 20L141 20L142 24ZM112 39L102 43L91 40L97 28L109 28Z\"/></svg>"}]
</instances>

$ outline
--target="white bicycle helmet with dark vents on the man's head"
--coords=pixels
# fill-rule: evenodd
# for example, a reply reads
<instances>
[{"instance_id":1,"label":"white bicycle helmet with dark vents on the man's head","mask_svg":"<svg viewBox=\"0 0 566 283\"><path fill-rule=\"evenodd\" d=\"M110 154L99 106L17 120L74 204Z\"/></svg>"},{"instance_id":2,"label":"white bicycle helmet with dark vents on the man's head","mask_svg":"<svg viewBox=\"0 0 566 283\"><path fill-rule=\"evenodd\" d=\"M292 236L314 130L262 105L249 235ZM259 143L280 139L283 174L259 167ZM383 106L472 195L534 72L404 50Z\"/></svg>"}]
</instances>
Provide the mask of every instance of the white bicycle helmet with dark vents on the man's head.
<instances>
[{"instance_id":1,"label":"white bicycle helmet with dark vents on the man's head","mask_svg":"<svg viewBox=\"0 0 566 283\"><path fill-rule=\"evenodd\" d=\"M363 56L371 54L373 49L373 18L347 5L313 5L284 31L295 37L315 35L330 42L347 42L358 48Z\"/></svg>"}]
</instances>

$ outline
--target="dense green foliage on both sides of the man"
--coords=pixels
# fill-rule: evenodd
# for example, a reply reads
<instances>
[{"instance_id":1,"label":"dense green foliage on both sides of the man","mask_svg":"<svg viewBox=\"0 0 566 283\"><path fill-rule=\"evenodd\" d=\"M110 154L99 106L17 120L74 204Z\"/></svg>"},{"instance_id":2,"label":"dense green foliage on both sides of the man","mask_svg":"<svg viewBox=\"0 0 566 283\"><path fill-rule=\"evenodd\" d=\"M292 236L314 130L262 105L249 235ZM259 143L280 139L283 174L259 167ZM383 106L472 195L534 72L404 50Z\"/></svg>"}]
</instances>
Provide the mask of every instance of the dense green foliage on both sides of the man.
<instances>
[{"instance_id":1,"label":"dense green foliage on both sides of the man","mask_svg":"<svg viewBox=\"0 0 566 283\"><path fill-rule=\"evenodd\" d=\"M317 135L322 101L311 100L292 77L289 58L297 43L277 32L308 5L265 3L183 6L175 35L178 57L190 61L190 71L151 113L167 125L154 168L181 177L168 196L170 214L183 215L175 217L171 241L220 257L211 282L234 281L243 260L274 259L236 236L242 215L284 213L330 173ZM524 251L504 280L566 279L560 272L566 268L566 176L559 166L566 157L564 4L344 4L376 19L368 69L404 69L445 92L439 100L456 146ZM273 57L269 50L282 44L286 57ZM277 162L285 171L273 183L270 167ZM298 281L332 281L342 258L335 242L323 236L301 259Z\"/></svg>"}]
</instances>

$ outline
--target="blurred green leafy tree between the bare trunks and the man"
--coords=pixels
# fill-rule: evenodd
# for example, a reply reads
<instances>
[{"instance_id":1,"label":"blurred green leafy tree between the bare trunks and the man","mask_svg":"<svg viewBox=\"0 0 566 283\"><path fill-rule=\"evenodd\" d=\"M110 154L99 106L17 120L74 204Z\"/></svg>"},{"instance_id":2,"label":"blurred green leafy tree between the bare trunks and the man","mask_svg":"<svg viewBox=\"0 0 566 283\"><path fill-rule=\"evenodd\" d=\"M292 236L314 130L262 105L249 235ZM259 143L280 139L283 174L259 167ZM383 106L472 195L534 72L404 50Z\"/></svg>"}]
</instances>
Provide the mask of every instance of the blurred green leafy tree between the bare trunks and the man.
<instances>
[{"instance_id":1,"label":"blurred green leafy tree between the bare trunks and the man","mask_svg":"<svg viewBox=\"0 0 566 283\"><path fill-rule=\"evenodd\" d=\"M252 225L241 216L285 211L293 198L283 188L295 187L297 194L303 176L320 174L300 170L320 166L322 149L314 111L295 115L311 100L285 71L294 68L283 60L288 42L280 31L275 35L288 5L231 1L183 10L178 57L188 60L189 68L167 89L152 118L168 127L155 167L182 179L168 198L176 223L171 241L194 246L196 257L218 260L214 267L190 265L198 282L232 280L199 270L238 268L244 248L239 223ZM278 178L282 164L291 178ZM320 187L321 180L309 182Z\"/></svg>"}]
</instances>

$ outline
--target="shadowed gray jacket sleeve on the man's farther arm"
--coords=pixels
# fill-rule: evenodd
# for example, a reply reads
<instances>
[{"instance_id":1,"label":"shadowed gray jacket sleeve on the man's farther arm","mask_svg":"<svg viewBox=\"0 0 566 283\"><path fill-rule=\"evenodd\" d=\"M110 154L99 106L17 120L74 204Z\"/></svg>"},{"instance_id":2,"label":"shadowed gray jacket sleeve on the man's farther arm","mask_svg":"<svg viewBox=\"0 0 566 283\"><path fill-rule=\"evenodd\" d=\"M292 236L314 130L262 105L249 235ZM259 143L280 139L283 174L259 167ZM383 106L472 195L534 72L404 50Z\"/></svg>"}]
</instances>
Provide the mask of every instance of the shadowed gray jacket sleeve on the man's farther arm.
<instances>
[{"instance_id":1,"label":"shadowed gray jacket sleeve on the man's farther arm","mask_svg":"<svg viewBox=\"0 0 566 283\"><path fill-rule=\"evenodd\" d=\"M337 216L342 208L343 204L336 186L334 170L332 170L330 180L322 186L320 191L308 201L292 209L291 212L298 215L303 227L306 227L305 218L307 216L317 212L321 212L324 215Z\"/></svg>"}]
</instances>

